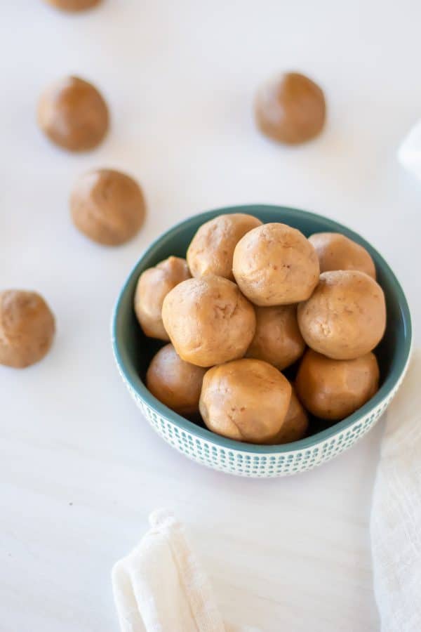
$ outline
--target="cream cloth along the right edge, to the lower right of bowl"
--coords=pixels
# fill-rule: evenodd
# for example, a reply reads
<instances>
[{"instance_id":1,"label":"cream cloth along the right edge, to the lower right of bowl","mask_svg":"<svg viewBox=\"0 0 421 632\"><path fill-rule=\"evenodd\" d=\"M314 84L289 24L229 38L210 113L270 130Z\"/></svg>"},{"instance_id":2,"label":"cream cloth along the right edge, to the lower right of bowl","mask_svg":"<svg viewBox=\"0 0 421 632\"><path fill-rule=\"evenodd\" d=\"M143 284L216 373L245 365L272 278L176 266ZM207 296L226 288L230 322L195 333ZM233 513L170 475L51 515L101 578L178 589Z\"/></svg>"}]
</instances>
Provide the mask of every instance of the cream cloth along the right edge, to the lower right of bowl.
<instances>
[{"instance_id":1,"label":"cream cloth along the right edge, to the lower right of bowl","mask_svg":"<svg viewBox=\"0 0 421 632\"><path fill-rule=\"evenodd\" d=\"M421 350L387 411L371 546L382 632L421 631Z\"/></svg>"}]
</instances>

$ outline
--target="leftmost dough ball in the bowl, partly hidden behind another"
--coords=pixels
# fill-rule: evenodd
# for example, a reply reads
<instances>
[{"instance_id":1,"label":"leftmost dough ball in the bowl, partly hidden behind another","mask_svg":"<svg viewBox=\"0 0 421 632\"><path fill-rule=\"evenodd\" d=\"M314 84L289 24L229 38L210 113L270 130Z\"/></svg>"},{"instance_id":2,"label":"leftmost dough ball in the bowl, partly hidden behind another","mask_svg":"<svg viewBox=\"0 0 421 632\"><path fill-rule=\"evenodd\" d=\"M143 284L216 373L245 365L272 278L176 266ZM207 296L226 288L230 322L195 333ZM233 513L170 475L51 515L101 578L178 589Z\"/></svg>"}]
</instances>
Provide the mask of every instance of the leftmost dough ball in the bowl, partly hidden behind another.
<instances>
[{"instance_id":1,"label":"leftmost dough ball in the bowl, partly hidden behind another","mask_svg":"<svg viewBox=\"0 0 421 632\"><path fill-rule=\"evenodd\" d=\"M170 339L162 322L163 299L176 285L189 278L187 261L180 257L168 257L142 272L135 291L135 312L146 336Z\"/></svg>"}]
</instances>

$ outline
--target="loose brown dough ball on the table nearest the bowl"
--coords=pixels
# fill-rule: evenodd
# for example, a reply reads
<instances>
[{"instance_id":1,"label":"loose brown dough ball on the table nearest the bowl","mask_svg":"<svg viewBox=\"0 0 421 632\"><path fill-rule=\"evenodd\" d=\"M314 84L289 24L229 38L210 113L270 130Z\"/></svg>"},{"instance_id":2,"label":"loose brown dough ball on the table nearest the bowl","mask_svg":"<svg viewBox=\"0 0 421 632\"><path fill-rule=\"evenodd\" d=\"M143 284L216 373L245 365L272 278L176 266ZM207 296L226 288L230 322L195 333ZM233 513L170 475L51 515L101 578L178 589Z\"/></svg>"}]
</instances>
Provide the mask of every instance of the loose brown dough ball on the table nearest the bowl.
<instances>
[{"instance_id":1,"label":"loose brown dough ball on the table nearest the bowl","mask_svg":"<svg viewBox=\"0 0 421 632\"><path fill-rule=\"evenodd\" d=\"M83 235L98 244L119 246L140 230L146 206L133 178L112 169L97 169L77 180L70 211Z\"/></svg>"}]
</instances>

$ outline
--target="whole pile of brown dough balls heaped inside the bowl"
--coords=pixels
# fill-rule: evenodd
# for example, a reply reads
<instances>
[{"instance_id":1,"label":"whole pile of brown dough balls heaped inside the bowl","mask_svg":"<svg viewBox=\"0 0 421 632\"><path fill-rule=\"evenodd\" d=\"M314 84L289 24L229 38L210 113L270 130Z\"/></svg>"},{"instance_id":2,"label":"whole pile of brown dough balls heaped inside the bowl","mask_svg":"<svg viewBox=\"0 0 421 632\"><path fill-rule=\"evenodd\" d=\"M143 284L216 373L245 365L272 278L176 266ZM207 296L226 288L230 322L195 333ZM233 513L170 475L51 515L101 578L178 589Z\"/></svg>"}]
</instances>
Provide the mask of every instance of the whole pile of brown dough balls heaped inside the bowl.
<instances>
[{"instance_id":1,"label":"whole pile of brown dough balls heaped inside the bowl","mask_svg":"<svg viewBox=\"0 0 421 632\"><path fill-rule=\"evenodd\" d=\"M140 275L134 306L146 336L168 342L147 388L219 435L296 441L308 413L335 422L377 391L385 296L370 254L345 235L307 239L220 215L196 232L187 261L171 256ZM294 383L282 373L292 365Z\"/></svg>"}]
</instances>

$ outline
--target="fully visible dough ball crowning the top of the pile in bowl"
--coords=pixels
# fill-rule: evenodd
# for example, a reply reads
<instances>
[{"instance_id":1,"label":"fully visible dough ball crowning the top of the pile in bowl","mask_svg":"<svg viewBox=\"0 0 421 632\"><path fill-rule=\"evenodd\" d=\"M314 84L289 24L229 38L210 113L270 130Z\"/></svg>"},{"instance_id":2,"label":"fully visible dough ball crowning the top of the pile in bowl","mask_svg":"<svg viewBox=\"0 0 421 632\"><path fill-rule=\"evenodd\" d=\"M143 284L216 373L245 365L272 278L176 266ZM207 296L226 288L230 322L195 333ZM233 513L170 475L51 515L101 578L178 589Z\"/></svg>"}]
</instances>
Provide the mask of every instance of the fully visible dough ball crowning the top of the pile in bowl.
<instances>
[{"instance_id":1,"label":"fully visible dough ball crowning the top of the pile in bowl","mask_svg":"<svg viewBox=\"0 0 421 632\"><path fill-rule=\"evenodd\" d=\"M311 296L319 280L319 260L309 240L286 224L250 230L234 250L239 288L255 305L289 305Z\"/></svg>"}]
</instances>

